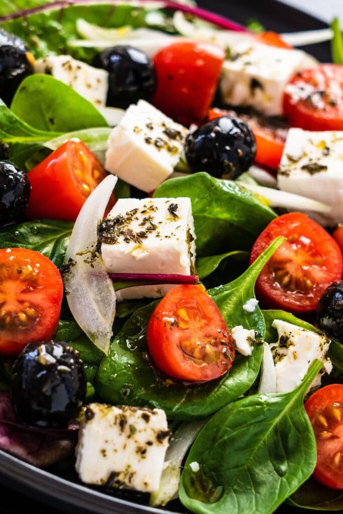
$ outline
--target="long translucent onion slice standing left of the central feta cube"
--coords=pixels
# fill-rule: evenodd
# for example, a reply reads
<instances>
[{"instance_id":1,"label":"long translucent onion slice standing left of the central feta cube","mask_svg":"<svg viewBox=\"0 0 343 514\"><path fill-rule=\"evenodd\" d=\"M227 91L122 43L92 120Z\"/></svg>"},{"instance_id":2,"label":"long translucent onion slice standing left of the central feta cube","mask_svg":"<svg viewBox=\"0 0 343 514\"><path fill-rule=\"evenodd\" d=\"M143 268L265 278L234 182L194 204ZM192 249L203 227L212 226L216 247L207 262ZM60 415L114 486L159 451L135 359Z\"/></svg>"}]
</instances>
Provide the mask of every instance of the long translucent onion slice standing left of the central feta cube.
<instances>
[{"instance_id":1,"label":"long translucent onion slice standing left of the central feta cube","mask_svg":"<svg viewBox=\"0 0 343 514\"><path fill-rule=\"evenodd\" d=\"M98 224L116 182L117 177L109 175L88 196L71 232L64 260L65 264L71 263L64 275L71 314L106 355L116 313L116 294L96 245Z\"/></svg>"}]
</instances>

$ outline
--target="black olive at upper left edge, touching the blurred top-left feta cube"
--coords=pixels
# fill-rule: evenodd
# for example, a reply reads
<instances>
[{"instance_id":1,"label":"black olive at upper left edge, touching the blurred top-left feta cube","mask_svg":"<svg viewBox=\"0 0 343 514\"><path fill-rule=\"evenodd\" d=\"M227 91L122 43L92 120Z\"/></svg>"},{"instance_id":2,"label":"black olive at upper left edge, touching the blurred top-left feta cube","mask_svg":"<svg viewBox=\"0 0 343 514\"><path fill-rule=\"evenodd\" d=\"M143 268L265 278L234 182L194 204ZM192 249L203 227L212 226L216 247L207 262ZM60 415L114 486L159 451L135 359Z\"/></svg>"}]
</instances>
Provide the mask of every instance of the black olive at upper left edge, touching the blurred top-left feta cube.
<instances>
[{"instance_id":1,"label":"black olive at upper left edge, touching the blurred top-left feta cube","mask_svg":"<svg viewBox=\"0 0 343 514\"><path fill-rule=\"evenodd\" d=\"M9 105L22 80L30 75L32 56L12 45L0 46L0 98Z\"/></svg>"}]
</instances>

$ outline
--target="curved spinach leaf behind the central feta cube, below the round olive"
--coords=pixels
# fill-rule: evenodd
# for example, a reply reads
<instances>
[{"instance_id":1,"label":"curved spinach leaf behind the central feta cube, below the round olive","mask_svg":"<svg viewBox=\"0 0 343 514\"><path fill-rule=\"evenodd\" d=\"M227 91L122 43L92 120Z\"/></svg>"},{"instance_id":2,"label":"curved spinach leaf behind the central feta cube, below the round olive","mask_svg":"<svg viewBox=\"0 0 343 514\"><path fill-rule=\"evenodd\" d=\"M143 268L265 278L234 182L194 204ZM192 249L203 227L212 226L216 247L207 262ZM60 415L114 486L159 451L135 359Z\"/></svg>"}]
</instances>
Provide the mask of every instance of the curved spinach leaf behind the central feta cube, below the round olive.
<instances>
[{"instance_id":1,"label":"curved spinach leaf behind the central feta cube, below the round olive","mask_svg":"<svg viewBox=\"0 0 343 514\"><path fill-rule=\"evenodd\" d=\"M250 250L276 214L238 183L195 173L163 182L154 197L188 196L202 257L230 250Z\"/></svg>"}]
</instances>

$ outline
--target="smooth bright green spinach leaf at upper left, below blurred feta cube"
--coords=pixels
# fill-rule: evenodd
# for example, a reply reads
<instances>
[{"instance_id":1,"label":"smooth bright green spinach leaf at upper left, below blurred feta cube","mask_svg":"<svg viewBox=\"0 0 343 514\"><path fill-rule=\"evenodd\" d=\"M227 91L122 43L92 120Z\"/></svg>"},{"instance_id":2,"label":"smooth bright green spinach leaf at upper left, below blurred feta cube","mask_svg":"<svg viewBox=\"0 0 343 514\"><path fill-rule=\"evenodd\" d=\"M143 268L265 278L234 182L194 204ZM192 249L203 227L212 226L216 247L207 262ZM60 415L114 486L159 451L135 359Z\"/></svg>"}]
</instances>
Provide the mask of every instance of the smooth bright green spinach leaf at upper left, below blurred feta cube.
<instances>
[{"instance_id":1,"label":"smooth bright green spinach leaf at upper left, below blurred feta cube","mask_svg":"<svg viewBox=\"0 0 343 514\"><path fill-rule=\"evenodd\" d=\"M11 111L43 131L72 132L107 126L91 102L50 75L26 77L14 95Z\"/></svg>"}]
</instances>

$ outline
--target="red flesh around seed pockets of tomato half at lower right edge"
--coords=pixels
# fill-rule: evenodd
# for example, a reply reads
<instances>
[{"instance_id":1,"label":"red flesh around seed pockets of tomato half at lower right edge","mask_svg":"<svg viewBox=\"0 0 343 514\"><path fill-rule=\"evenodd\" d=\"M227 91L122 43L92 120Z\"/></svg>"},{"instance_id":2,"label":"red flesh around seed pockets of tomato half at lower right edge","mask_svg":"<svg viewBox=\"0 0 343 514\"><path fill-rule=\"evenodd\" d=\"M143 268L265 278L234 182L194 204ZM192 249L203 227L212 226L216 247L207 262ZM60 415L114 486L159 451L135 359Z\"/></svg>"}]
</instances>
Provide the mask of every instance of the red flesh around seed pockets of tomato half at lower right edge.
<instances>
[{"instance_id":1,"label":"red flesh around seed pockets of tomato half at lower right edge","mask_svg":"<svg viewBox=\"0 0 343 514\"><path fill-rule=\"evenodd\" d=\"M305 402L305 410L308 413L312 425L315 425L317 411L322 411L325 407L332 403L340 403L343 405L343 384L330 384L330 386L323 387L318 391L315 391L312 396ZM331 427L328 427L330 430ZM334 429L336 440L334 443L337 444L337 439L340 439L340 451L343 451L343 422L341 420L340 425ZM315 434L316 435L316 434ZM340 436L340 437L339 437ZM313 472L313 476L321 484L330 487L331 489L343 489L343 473L339 473L338 469L330 466L328 463L328 457L326 454L330 450L327 446L328 440L318 440L317 442L317 464ZM331 442L330 442L331 443ZM339 446L339 445L338 445Z\"/></svg>"}]
</instances>

